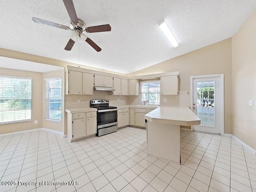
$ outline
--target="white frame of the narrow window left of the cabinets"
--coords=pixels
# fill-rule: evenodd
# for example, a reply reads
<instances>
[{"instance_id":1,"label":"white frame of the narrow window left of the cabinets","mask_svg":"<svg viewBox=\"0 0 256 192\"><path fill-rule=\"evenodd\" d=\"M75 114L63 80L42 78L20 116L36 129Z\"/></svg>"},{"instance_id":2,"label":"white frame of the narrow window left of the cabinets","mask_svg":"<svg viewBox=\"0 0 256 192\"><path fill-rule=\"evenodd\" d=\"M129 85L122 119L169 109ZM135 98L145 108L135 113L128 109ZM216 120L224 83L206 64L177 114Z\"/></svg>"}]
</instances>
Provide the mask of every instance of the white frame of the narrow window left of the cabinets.
<instances>
[{"instance_id":1,"label":"white frame of the narrow window left of the cabinets","mask_svg":"<svg viewBox=\"0 0 256 192\"><path fill-rule=\"evenodd\" d=\"M48 94L47 81L48 80L56 80L56 79L59 79L60 82L61 82L61 86L60 86L60 88L61 88L61 92L60 92L60 106L61 106L60 111L61 111L61 117L60 117L60 120L59 119L55 119L55 118L48 118L48 116L47 116L47 114L50 114L50 112L48 112L48 111L50 111L50 107L49 107L49 105L50 105L50 99L49 98L50 97L48 96L49 94ZM44 110L45 110L45 112L44 112L45 120L46 121L51 121L51 122L61 123L62 122L62 102L63 102L62 101L62 92L63 92L63 90L62 90L62 78L61 77L45 78L44 82L45 82L45 108L44 108Z\"/></svg>"}]
</instances>

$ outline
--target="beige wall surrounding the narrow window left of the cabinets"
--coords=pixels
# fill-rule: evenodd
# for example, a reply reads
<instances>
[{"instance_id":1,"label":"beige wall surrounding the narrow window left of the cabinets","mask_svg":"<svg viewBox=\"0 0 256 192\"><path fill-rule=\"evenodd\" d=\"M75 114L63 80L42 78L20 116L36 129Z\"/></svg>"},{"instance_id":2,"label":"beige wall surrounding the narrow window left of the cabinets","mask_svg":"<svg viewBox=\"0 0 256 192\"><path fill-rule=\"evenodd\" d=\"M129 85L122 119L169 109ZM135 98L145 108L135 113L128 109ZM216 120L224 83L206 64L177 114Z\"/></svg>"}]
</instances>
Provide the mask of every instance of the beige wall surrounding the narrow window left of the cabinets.
<instances>
[{"instance_id":1,"label":"beige wall surrounding the narrow window left of the cabinets","mask_svg":"<svg viewBox=\"0 0 256 192\"><path fill-rule=\"evenodd\" d=\"M46 99L46 93L45 93L45 78L53 78L53 77L61 77L62 79L62 120L61 122L53 122L46 120L45 118L45 99ZM42 74L42 127L46 129L51 129L51 130L56 130L59 132L64 133L64 125L65 125L65 120L64 120L64 111L65 111L65 106L64 106L64 101L65 101L65 70L58 70L58 71L52 71L52 72L46 72Z\"/></svg>"}]
</instances>

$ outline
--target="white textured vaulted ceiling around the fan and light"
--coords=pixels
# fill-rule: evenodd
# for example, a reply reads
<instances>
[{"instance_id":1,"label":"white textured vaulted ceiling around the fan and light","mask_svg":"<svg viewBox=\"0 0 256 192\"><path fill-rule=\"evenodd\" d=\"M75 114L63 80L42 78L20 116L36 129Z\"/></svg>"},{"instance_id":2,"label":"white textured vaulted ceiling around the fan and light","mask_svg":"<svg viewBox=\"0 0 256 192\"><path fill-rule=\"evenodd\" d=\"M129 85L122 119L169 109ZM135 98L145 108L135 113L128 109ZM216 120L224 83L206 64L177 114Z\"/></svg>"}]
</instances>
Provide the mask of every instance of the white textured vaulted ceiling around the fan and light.
<instances>
[{"instance_id":1,"label":"white textured vaulted ceiling around the fan and light","mask_svg":"<svg viewBox=\"0 0 256 192\"><path fill-rule=\"evenodd\" d=\"M231 37L256 8L256 0L73 0L88 34L101 48L80 42L80 64L131 73ZM1 0L0 47L79 63L79 43L64 50L72 31L36 24L32 16L69 26L62 0ZM180 46L173 48L158 23L166 20Z\"/></svg>"}]
</instances>

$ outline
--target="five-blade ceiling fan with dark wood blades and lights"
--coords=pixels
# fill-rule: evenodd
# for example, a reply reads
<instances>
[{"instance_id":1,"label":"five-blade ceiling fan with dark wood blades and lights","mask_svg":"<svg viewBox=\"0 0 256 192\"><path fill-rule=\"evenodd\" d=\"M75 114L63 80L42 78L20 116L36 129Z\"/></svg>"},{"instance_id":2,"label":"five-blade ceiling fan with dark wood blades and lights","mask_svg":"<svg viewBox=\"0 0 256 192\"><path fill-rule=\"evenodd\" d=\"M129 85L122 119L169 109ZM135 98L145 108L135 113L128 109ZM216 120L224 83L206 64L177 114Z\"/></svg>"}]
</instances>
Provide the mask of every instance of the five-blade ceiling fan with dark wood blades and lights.
<instances>
[{"instance_id":1,"label":"five-blade ceiling fan with dark wood blades and lights","mask_svg":"<svg viewBox=\"0 0 256 192\"><path fill-rule=\"evenodd\" d=\"M101 48L96 43L94 43L90 38L88 38L85 34L83 34L83 32L95 33L95 32L111 31L111 26L109 24L106 24L106 25L86 27L85 23L81 19L77 18L73 1L72 0L63 0L63 2L68 11L70 19L71 19L70 27L64 26L61 24L57 24L54 22L42 20L42 19L35 18L35 17L32 17L32 20L36 23L46 24L46 25L50 25L50 26L65 29L65 30L74 30L74 34L71 36L70 40L68 41L68 44L65 47L65 50L67 50L67 51L70 51L72 49L77 38L79 38L79 37L82 40L86 41L96 51L98 51L98 52L101 51Z\"/></svg>"}]
</instances>

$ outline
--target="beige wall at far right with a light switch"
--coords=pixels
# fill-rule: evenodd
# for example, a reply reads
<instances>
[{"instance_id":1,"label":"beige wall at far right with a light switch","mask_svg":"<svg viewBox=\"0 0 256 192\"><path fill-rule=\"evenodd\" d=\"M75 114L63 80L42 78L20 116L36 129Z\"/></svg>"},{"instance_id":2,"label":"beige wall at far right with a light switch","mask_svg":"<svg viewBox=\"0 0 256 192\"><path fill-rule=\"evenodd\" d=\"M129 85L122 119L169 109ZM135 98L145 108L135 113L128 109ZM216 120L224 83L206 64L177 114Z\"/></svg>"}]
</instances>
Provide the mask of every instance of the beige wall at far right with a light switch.
<instances>
[{"instance_id":1,"label":"beige wall at far right with a light switch","mask_svg":"<svg viewBox=\"0 0 256 192\"><path fill-rule=\"evenodd\" d=\"M256 150L256 11L232 37L233 134ZM254 106L248 101L254 100Z\"/></svg>"}]
</instances>

